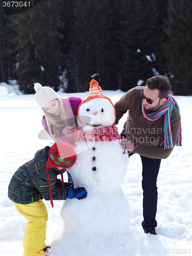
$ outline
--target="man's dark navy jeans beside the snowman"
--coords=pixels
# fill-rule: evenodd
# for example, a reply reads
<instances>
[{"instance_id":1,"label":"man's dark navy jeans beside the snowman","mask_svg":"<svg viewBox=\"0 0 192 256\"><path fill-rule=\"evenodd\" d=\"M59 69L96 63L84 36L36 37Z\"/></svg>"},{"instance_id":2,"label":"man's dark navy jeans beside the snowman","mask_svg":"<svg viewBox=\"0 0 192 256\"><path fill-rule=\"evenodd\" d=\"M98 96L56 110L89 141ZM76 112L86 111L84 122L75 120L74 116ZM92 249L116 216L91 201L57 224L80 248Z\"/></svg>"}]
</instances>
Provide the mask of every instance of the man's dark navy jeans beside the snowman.
<instances>
[{"instance_id":1,"label":"man's dark navy jeans beside the snowman","mask_svg":"<svg viewBox=\"0 0 192 256\"><path fill-rule=\"evenodd\" d=\"M124 132L120 134L125 137ZM135 153L129 154L131 157ZM157 227L157 176L161 159L141 156L142 162L142 189L143 189L143 218L142 227L145 230L153 230Z\"/></svg>"}]
</instances>

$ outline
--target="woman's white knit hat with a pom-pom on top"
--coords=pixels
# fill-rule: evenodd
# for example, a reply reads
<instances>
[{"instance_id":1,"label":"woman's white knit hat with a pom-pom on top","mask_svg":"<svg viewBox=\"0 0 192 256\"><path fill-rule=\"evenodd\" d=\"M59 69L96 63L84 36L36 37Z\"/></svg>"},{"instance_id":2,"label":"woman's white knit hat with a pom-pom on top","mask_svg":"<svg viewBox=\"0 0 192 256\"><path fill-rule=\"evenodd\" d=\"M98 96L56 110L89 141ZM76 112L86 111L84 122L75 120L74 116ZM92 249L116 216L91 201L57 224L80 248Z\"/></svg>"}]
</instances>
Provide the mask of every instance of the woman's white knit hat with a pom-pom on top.
<instances>
[{"instance_id":1,"label":"woman's white knit hat with a pom-pom on top","mask_svg":"<svg viewBox=\"0 0 192 256\"><path fill-rule=\"evenodd\" d=\"M61 98L59 95L50 87L44 86L42 87L40 83L36 82L34 83L34 89L35 89L35 99L37 101L37 104L42 109L48 102L59 99L61 101ZM61 101L62 103L62 101Z\"/></svg>"}]
</instances>

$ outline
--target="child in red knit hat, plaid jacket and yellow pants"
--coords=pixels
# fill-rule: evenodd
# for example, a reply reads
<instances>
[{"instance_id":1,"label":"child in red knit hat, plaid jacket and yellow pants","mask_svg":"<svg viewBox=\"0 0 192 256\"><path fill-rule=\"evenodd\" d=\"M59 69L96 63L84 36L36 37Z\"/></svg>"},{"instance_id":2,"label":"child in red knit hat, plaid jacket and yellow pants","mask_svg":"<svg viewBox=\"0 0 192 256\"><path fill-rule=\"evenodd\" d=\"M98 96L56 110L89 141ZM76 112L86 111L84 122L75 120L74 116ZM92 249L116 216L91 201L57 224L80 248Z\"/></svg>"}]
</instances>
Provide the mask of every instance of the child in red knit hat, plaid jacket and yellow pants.
<instances>
[{"instance_id":1,"label":"child in red knit hat, plaid jacket and yellow pants","mask_svg":"<svg viewBox=\"0 0 192 256\"><path fill-rule=\"evenodd\" d=\"M87 197L84 187L73 188L64 183L62 174L76 162L73 147L67 142L56 142L36 152L35 157L20 166L14 173L8 188L8 197L28 221L24 232L24 256L45 256L48 246L46 222L48 212L42 199L66 200ZM57 175L61 174L61 180ZM50 247L49 247L50 248Z\"/></svg>"}]
</instances>

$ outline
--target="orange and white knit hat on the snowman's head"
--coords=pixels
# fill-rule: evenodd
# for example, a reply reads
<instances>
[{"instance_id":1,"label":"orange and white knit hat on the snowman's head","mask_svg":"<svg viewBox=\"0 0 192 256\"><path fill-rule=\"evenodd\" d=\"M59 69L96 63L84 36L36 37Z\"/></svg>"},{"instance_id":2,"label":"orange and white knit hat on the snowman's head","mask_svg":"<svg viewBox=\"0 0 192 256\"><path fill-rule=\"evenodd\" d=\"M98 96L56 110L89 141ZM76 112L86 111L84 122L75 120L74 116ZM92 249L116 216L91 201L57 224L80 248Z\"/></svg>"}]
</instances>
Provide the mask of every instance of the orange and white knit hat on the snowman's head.
<instances>
[{"instance_id":1,"label":"orange and white knit hat on the snowman's head","mask_svg":"<svg viewBox=\"0 0 192 256\"><path fill-rule=\"evenodd\" d=\"M114 107L114 104L112 103L111 99L108 98L107 96L104 96L103 93L102 93L102 90L98 84L98 82L94 79L91 80L90 82L90 89L89 89L89 96L87 98L85 98L79 105L79 109L80 109L80 106L89 101L89 100L92 100L92 99L95 99L95 98L104 98L104 99L108 99L110 101L110 103L112 104L113 106L113 109L114 109L114 115L115 115L115 119L116 119L116 113L115 113L115 107ZM79 109L78 109L78 116L79 116ZM81 122L80 118L79 118L79 121ZM81 122L82 123L82 122Z\"/></svg>"}]
</instances>

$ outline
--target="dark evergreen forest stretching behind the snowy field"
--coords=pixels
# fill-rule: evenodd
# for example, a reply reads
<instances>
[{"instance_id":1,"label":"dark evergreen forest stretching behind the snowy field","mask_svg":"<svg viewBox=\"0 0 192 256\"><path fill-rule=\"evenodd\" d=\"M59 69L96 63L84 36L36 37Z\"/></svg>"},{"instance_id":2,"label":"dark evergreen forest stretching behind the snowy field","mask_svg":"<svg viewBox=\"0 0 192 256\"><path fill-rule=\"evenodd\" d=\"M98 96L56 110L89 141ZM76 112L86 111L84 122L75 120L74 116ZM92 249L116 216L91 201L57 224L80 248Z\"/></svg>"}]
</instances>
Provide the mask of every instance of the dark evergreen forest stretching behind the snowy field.
<instances>
[{"instance_id":1,"label":"dark evergreen forest stretching behind the snowy field","mask_svg":"<svg viewBox=\"0 0 192 256\"><path fill-rule=\"evenodd\" d=\"M84 92L91 79L124 92L167 75L192 95L191 0L41 0L6 17L0 3L0 82Z\"/></svg>"}]
</instances>

